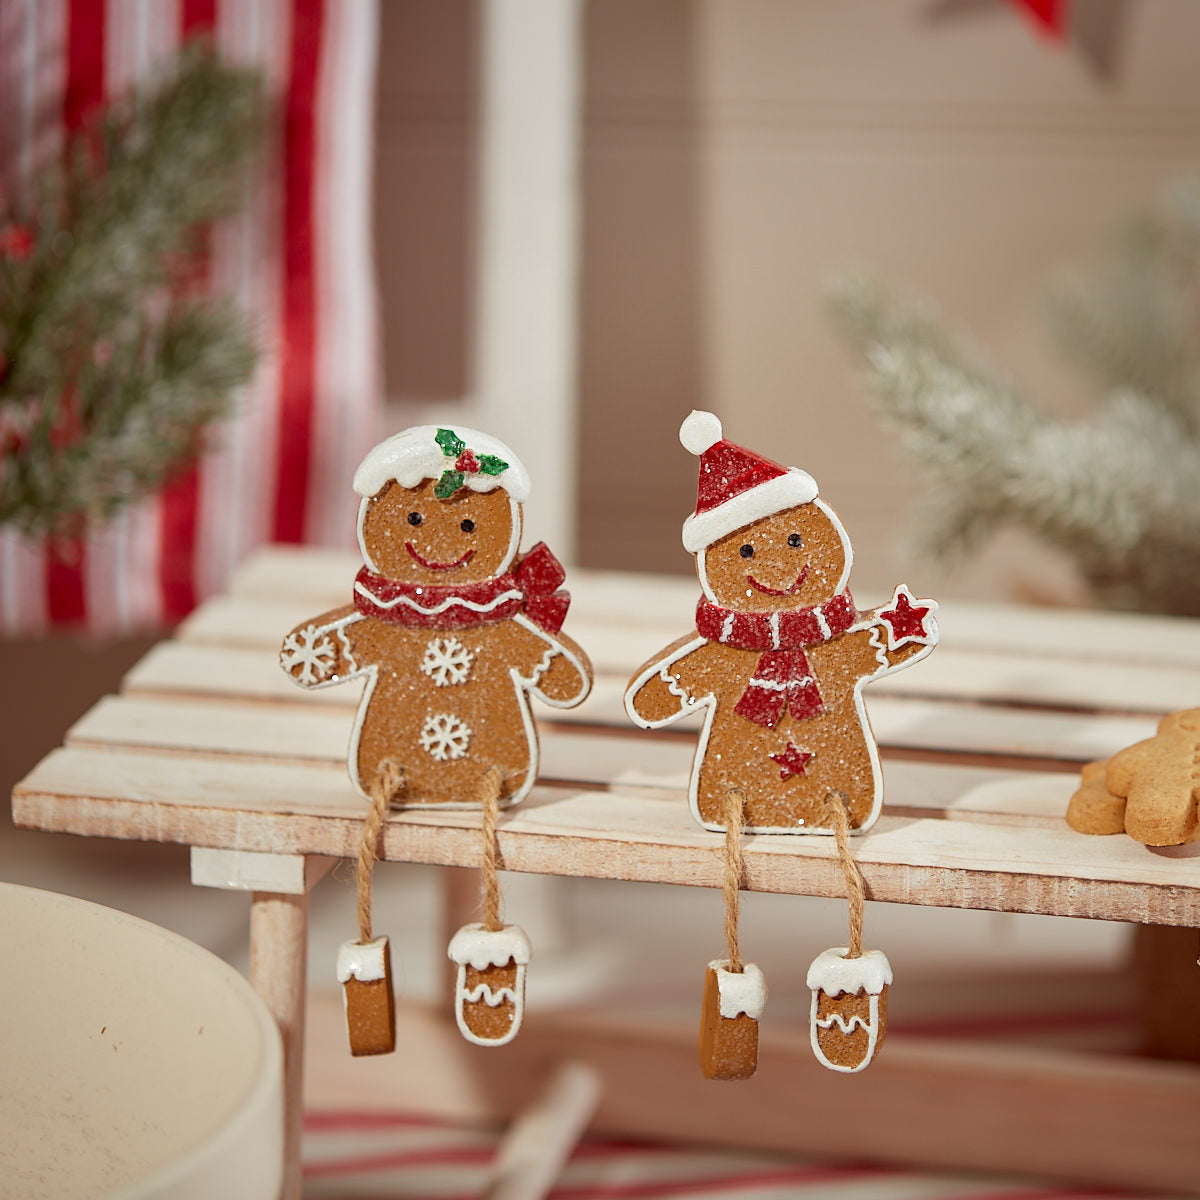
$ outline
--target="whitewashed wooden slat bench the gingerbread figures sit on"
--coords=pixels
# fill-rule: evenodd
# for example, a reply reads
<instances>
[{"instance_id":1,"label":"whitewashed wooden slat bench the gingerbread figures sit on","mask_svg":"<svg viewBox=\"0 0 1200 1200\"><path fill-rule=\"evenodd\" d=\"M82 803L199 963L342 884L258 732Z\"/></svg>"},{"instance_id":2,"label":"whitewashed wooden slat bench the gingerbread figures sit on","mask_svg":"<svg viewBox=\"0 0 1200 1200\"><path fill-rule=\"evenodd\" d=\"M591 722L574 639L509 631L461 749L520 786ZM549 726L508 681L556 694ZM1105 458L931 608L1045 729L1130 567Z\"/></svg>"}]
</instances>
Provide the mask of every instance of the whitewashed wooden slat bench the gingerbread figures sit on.
<instances>
[{"instance_id":1,"label":"whitewashed wooden slat bench the gingerbread figures sit on","mask_svg":"<svg viewBox=\"0 0 1200 1200\"><path fill-rule=\"evenodd\" d=\"M306 889L330 859L356 854L362 802L344 767L358 686L302 691L280 671L276 652L296 622L343 600L356 565L350 556L295 550L250 560L227 595L146 655L121 694L83 716L65 746L13 796L20 826L181 842L193 847L197 882L254 890L252 976L281 1019L288 1050L293 1194L299 1187ZM695 583L574 571L571 590L566 628L592 655L596 686L578 709L536 713L541 782L518 809L502 815L504 866L720 887L722 839L692 822L684 799L695 727L648 733L622 709L632 667L686 629ZM942 644L926 662L866 692L887 779L884 815L854 842L868 895L1200 926L1200 870L1190 853L1154 853L1123 836L1086 838L1062 818L1080 763L1147 737L1162 713L1196 703L1200 623L972 604L943 605L940 620ZM392 814L382 857L473 866L478 827L470 812ZM749 889L845 894L829 839L749 839L745 860ZM593 1045L600 1034L576 1030L571 1037ZM556 1044L553 1034L542 1038ZM614 1033L611 1052L598 1056L607 1057L606 1086L613 1096L640 1111L636 1087L612 1074L623 1061L613 1048L630 1038L644 1042L628 1030ZM527 1033L503 1051L506 1061L516 1061L511 1056L523 1042ZM1190 1068L1078 1056L1034 1063L1012 1052L960 1048L960 1066L952 1069L940 1049L913 1043L906 1051L899 1036L895 1042L853 1081L868 1115L875 1105L886 1121L905 1079L935 1087L932 1110L943 1114L935 1121L950 1123L964 1097L983 1103L982 1087L1002 1098L1008 1088L1036 1086L1054 1105L1057 1126L1052 1133L1043 1129L1040 1139L1038 1122L1022 1126L1021 1165L1163 1187L1190 1186L1195 1178L1200 1152L1194 1120L1186 1114L1198 1111L1200 1074ZM787 1054L788 1062L798 1061L794 1046ZM845 1080L809 1067L796 1067L796 1074L806 1088L805 1111L816 1103L812 1097L833 1094L832 1087L846 1096ZM880 1082L868 1082L869 1076ZM978 1087L964 1092L968 1078ZM736 1085L743 1086L750 1085ZM781 1079L763 1085L786 1086ZM756 1102L757 1110L754 1103L743 1105L740 1116L726 1115L712 1135L725 1130L762 1144L761 1132L778 1126L769 1114L793 1103L780 1091L767 1094L774 1100ZM1096 1136L1105 1104L1120 1096L1139 1100L1132 1118L1138 1122L1135 1153ZM1030 1109L1031 1103L1021 1102L1026 1115L1045 1111L1038 1104ZM714 1111L724 1114L728 1104L714 1097ZM755 1111L762 1114L757 1124ZM1130 1120L1128 1106L1126 1114ZM697 1118L690 1128L709 1127ZM670 1121L660 1121L644 1132L672 1130ZM994 1135L980 1142L965 1133L947 1140L943 1133L944 1126L930 1124L924 1140L840 1148L960 1165L1018 1162L1012 1154L1019 1147L1006 1151ZM797 1148L839 1148L836 1139L810 1135L805 1141L800 1123L788 1136ZM1087 1163L1080 1159L1084 1145L1092 1156Z\"/></svg>"}]
</instances>

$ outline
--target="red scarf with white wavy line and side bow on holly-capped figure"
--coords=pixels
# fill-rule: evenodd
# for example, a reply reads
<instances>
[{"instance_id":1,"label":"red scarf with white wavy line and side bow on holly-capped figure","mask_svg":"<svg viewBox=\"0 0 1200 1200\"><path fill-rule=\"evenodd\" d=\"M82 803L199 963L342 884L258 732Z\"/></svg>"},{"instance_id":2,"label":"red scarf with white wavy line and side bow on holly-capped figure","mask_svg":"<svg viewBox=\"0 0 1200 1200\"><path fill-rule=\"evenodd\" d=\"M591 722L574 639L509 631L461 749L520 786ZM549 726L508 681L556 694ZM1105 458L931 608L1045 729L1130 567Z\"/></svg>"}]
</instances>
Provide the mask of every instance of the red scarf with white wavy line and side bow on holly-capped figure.
<instances>
[{"instance_id":1,"label":"red scarf with white wavy line and side bow on holly-capped figure","mask_svg":"<svg viewBox=\"0 0 1200 1200\"><path fill-rule=\"evenodd\" d=\"M364 566L354 580L354 607L364 617L418 629L468 629L524 612L557 634L571 602L559 587L565 578L562 564L539 541L515 571L479 583L404 583Z\"/></svg>"}]
</instances>

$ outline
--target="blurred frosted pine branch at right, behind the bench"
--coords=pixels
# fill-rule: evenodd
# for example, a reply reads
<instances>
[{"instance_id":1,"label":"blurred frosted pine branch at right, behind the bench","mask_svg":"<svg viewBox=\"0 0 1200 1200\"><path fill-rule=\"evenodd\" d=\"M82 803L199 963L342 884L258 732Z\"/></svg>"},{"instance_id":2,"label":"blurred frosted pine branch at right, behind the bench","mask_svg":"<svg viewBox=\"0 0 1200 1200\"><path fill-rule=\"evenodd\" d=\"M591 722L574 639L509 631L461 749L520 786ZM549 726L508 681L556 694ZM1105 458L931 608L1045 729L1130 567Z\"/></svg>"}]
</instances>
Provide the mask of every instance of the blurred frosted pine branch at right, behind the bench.
<instances>
[{"instance_id":1,"label":"blurred frosted pine branch at right, behind the bench","mask_svg":"<svg viewBox=\"0 0 1200 1200\"><path fill-rule=\"evenodd\" d=\"M1087 420L1050 420L926 302L854 278L830 307L882 419L931 476L920 552L964 553L1022 524L1106 604L1200 613L1200 442L1169 406L1123 391Z\"/></svg>"}]
</instances>

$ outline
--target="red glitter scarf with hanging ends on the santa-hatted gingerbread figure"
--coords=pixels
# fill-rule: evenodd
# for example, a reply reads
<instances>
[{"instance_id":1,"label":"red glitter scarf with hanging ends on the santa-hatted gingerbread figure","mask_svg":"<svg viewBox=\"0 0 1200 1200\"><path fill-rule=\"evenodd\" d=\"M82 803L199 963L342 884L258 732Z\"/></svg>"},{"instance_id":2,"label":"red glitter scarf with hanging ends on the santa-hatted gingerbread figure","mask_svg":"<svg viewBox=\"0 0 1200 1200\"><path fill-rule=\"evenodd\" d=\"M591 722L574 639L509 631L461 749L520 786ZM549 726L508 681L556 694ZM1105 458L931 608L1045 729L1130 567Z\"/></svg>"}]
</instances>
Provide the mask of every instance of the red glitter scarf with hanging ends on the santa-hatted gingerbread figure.
<instances>
[{"instance_id":1,"label":"red glitter scarf with hanging ends on the santa-hatted gingerbread figure","mask_svg":"<svg viewBox=\"0 0 1200 1200\"><path fill-rule=\"evenodd\" d=\"M845 634L857 616L848 592L839 592L811 608L788 612L738 612L701 598L696 605L696 629L710 642L763 652L733 710L773 730L785 708L796 720L804 721L824 707L804 650Z\"/></svg>"}]
</instances>

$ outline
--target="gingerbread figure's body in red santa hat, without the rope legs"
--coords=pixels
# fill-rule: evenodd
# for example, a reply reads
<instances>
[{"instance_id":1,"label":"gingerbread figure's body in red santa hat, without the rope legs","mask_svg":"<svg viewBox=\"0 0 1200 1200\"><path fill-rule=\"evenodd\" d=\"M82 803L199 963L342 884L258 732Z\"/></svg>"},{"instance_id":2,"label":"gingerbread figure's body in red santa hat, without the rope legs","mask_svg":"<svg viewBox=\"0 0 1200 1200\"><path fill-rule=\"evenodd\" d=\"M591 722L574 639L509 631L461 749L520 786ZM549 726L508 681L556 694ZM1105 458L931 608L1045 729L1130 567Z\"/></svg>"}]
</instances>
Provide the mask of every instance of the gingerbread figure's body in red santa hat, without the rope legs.
<instances>
[{"instance_id":1,"label":"gingerbread figure's body in red santa hat, without the rope legs","mask_svg":"<svg viewBox=\"0 0 1200 1200\"><path fill-rule=\"evenodd\" d=\"M625 708L646 728L704 712L689 798L706 828L724 828L737 787L748 833L830 833L832 790L866 829L883 781L863 686L930 653L937 605L901 584L859 612L850 540L811 475L725 440L712 413L694 412L679 438L700 457L683 527L696 628L638 670Z\"/></svg>"}]
</instances>

